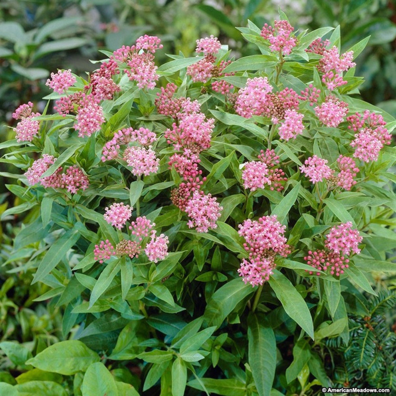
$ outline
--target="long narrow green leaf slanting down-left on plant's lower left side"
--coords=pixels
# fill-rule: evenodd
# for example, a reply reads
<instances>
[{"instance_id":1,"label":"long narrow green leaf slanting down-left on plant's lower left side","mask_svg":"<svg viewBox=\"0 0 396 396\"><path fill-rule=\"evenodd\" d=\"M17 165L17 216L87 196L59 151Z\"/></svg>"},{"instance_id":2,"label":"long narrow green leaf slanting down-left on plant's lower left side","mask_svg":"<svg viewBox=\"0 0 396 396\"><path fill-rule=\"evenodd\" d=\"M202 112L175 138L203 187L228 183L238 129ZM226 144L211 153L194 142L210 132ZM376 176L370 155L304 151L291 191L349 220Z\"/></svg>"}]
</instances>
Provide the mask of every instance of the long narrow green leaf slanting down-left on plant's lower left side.
<instances>
[{"instance_id":1,"label":"long narrow green leaf slanting down-left on plant's lower left side","mask_svg":"<svg viewBox=\"0 0 396 396\"><path fill-rule=\"evenodd\" d=\"M80 238L76 228L66 231L55 243L49 248L44 259L38 265L32 284L42 281L63 259L65 254L71 249Z\"/></svg>"}]
</instances>

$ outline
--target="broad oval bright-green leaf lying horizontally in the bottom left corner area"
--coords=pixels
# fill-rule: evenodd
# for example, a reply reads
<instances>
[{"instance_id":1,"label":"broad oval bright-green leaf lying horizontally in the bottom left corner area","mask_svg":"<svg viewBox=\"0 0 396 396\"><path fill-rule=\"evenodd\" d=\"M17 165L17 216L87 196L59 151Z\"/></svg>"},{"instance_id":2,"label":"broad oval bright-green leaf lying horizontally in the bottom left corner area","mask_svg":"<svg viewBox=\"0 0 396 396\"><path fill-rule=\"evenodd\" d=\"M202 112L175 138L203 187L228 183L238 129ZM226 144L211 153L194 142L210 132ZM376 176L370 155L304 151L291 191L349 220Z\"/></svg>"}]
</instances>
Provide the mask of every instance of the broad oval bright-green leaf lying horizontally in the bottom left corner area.
<instances>
[{"instance_id":1,"label":"broad oval bright-green leaf lying horizontally in the bottom left corner area","mask_svg":"<svg viewBox=\"0 0 396 396\"><path fill-rule=\"evenodd\" d=\"M91 363L99 360L99 355L81 341L68 340L49 346L29 359L27 364L44 371L72 375L78 371L86 371Z\"/></svg>"}]
</instances>

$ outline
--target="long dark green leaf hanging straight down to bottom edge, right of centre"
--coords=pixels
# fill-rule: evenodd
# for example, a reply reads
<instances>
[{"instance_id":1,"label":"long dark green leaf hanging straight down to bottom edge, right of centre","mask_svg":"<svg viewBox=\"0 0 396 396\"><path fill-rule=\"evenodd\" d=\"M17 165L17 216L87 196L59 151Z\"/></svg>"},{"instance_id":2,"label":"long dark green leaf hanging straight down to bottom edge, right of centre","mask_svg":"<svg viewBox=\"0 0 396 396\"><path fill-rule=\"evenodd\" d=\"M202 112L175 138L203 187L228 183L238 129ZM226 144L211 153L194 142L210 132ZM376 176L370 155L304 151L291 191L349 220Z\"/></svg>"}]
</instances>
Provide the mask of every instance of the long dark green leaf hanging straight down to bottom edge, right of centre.
<instances>
[{"instance_id":1,"label":"long dark green leaf hanging straight down to bottom edge, right of centre","mask_svg":"<svg viewBox=\"0 0 396 396\"><path fill-rule=\"evenodd\" d=\"M263 318L250 314L247 319L249 365L259 396L269 396L276 368L276 340L271 327L263 325Z\"/></svg>"}]
</instances>

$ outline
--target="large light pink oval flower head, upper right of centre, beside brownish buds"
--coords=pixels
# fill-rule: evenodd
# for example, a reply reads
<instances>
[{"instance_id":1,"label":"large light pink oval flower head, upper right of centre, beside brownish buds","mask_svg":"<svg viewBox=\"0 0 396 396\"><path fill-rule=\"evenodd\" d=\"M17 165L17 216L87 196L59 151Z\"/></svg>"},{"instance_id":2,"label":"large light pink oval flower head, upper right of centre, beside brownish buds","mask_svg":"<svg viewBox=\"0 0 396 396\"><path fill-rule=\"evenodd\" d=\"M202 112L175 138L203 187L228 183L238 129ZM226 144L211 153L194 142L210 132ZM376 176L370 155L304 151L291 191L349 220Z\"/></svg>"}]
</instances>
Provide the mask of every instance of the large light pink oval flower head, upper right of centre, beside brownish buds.
<instances>
[{"instance_id":1,"label":"large light pink oval flower head, upper right of centre, beside brownish buds","mask_svg":"<svg viewBox=\"0 0 396 396\"><path fill-rule=\"evenodd\" d=\"M248 78L246 86L238 92L235 101L236 113L245 118L265 114L269 101L268 94L272 89L267 77Z\"/></svg>"}]
</instances>

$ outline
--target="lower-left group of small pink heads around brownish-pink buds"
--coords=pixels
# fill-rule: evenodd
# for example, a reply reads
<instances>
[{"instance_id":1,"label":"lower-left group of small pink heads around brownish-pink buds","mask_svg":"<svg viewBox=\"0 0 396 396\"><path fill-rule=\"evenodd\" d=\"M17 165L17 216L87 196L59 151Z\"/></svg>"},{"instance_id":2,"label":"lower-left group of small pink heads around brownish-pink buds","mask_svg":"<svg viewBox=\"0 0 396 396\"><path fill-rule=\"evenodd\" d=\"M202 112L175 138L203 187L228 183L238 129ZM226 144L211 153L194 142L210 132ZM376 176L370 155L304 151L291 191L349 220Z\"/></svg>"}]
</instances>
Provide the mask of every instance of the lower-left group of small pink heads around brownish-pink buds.
<instances>
[{"instance_id":1,"label":"lower-left group of small pink heads around brownish-pink buds","mask_svg":"<svg viewBox=\"0 0 396 396\"><path fill-rule=\"evenodd\" d=\"M131 217L132 208L129 205L112 204L109 208L106 208L106 213L103 216L108 223L121 229ZM109 240L101 241L99 245L95 245L94 258L99 260L99 263L103 263L104 260L110 259L111 256L129 256L139 257L141 251L145 251L148 259L154 263L158 263L158 260L163 260L168 255L168 244L169 239L164 234L160 236L156 235L156 231L152 230L155 223L152 223L145 216L137 217L136 221L132 221L129 226L131 234L137 238L137 240L123 239L116 245L115 249ZM144 238L150 237L150 241L144 246Z\"/></svg>"}]
</instances>

